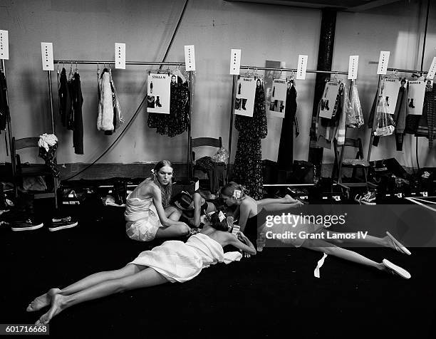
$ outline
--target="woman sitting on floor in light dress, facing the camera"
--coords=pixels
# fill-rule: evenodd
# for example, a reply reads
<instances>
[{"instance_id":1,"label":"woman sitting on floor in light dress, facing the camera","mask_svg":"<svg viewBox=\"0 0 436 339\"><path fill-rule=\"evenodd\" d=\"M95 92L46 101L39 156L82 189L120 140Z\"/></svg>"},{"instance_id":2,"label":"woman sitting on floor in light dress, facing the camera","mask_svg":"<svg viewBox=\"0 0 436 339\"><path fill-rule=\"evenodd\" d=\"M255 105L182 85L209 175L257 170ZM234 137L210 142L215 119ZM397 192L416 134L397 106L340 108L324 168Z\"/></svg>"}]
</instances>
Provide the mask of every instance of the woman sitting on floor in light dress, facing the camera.
<instances>
[{"instance_id":1,"label":"woman sitting on floor in light dress, facing the camera","mask_svg":"<svg viewBox=\"0 0 436 339\"><path fill-rule=\"evenodd\" d=\"M130 239L152 241L156 238L183 236L190 227L179 221L182 212L170 206L172 165L157 163L153 177L145 179L130 193L125 204L126 232Z\"/></svg>"}]
</instances>

